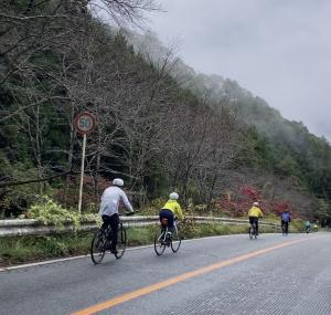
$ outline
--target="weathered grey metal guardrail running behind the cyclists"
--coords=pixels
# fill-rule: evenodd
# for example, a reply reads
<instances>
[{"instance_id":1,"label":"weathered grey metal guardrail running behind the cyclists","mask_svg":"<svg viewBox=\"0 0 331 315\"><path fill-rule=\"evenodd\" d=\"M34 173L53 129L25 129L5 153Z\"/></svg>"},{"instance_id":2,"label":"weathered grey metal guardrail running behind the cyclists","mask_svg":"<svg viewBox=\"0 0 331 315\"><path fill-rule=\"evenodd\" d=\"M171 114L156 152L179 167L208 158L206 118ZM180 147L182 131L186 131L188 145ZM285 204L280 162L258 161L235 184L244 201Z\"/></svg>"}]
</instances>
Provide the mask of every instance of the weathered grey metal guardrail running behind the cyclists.
<instances>
[{"instance_id":1,"label":"weathered grey metal guardrail running behind the cyclists","mask_svg":"<svg viewBox=\"0 0 331 315\"><path fill-rule=\"evenodd\" d=\"M186 217L199 224L220 223L220 224L236 224L248 225L247 220L232 219L232 218L216 218L216 217ZM121 217L121 222L125 227L147 227L157 225L159 223L158 216L137 216L137 217ZM268 225L279 228L279 224L271 222L260 222L260 225ZM94 221L83 221L78 231L94 231L98 224ZM54 233L67 233L75 230L70 221L63 222L63 228L54 224L43 224L35 219L15 219L15 220L0 220L0 238L3 237L20 237L20 235L46 235Z\"/></svg>"}]
</instances>

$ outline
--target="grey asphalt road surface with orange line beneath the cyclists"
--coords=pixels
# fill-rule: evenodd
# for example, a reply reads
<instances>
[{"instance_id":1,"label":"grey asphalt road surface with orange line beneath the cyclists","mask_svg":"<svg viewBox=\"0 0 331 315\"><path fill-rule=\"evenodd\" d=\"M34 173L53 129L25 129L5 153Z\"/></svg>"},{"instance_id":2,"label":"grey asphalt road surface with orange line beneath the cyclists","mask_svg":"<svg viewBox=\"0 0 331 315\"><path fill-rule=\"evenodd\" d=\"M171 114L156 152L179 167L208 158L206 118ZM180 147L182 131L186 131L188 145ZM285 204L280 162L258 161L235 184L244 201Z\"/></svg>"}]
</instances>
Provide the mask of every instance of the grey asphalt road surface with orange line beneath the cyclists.
<instances>
[{"instance_id":1,"label":"grey asphalt road surface with orange line beneath the cyclists","mask_svg":"<svg viewBox=\"0 0 331 315\"><path fill-rule=\"evenodd\" d=\"M330 315L330 244L331 233L229 235L0 272L0 314Z\"/></svg>"}]
</instances>

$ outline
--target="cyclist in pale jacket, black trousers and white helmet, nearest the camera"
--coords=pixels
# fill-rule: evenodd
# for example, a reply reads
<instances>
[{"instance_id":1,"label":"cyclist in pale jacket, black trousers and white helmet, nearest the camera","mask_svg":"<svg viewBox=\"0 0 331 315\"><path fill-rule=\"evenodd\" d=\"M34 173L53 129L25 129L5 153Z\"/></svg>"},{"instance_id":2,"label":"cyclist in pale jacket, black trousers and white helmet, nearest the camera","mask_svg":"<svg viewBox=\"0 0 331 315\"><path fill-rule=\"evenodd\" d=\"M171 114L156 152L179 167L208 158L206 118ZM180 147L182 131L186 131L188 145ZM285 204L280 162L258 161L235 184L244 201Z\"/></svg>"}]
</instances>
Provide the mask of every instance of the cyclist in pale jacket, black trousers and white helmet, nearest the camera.
<instances>
[{"instance_id":1,"label":"cyclist in pale jacket, black trousers and white helmet, nearest the camera","mask_svg":"<svg viewBox=\"0 0 331 315\"><path fill-rule=\"evenodd\" d=\"M113 180L113 186L105 189L102 196L102 204L99 209L99 214L104 221L102 229L106 230L108 225L111 228L111 234L108 237L113 237L113 239L107 240L110 243L108 248L113 254L117 253L117 232L118 232L118 207L119 202L122 201L125 207L134 213L132 206L127 197L127 195L119 188L124 186L124 180L121 178L115 178Z\"/></svg>"}]
</instances>

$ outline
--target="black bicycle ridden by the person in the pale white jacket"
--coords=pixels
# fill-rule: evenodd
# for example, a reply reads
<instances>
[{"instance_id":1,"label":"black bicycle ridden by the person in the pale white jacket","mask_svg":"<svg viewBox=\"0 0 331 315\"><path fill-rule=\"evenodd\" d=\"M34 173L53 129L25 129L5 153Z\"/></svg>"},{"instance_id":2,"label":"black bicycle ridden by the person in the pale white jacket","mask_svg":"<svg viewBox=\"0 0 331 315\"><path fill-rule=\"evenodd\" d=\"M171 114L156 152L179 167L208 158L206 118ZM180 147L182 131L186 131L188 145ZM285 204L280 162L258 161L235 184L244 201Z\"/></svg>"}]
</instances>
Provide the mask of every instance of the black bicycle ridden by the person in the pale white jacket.
<instances>
[{"instance_id":1,"label":"black bicycle ridden by the person in the pale white jacket","mask_svg":"<svg viewBox=\"0 0 331 315\"><path fill-rule=\"evenodd\" d=\"M106 230L99 228L92 240L90 243L90 259L94 264L102 263L105 253L107 251L107 248L109 244L108 237L111 240L111 228L110 225L107 227ZM117 238L117 253L115 253L116 259L121 259L127 246L127 232L122 224L122 222L118 223L118 238Z\"/></svg>"}]
</instances>

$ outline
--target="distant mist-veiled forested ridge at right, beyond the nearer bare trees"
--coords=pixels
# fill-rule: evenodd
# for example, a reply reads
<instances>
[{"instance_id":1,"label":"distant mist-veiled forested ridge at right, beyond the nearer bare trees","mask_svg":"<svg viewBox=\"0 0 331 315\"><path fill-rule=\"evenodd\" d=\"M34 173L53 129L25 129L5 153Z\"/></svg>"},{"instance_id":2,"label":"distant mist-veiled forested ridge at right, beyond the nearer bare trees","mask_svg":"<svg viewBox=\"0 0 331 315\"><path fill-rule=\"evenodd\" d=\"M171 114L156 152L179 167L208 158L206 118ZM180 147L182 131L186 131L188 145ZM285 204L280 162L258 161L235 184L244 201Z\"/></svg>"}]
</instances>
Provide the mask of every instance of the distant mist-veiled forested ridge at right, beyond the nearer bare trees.
<instances>
[{"instance_id":1,"label":"distant mist-veiled forested ridge at right, beyond the nearer bare trees","mask_svg":"<svg viewBox=\"0 0 331 315\"><path fill-rule=\"evenodd\" d=\"M325 138L309 133L302 122L289 122L260 97L236 82L197 75L195 94L223 101L246 124L254 125L263 140L263 160L276 175L296 177L319 198L331 198L331 149Z\"/></svg>"}]
</instances>

